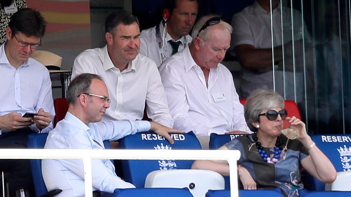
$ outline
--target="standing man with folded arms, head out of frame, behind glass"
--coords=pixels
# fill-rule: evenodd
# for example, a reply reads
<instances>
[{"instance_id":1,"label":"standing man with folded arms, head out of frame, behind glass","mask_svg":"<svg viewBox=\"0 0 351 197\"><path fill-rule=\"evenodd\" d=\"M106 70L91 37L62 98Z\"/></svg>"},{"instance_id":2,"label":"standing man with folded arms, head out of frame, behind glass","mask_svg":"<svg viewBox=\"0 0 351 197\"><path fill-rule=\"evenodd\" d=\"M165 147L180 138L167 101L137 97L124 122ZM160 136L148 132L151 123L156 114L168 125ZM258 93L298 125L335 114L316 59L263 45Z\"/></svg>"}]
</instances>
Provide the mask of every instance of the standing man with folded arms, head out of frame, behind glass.
<instances>
[{"instance_id":1,"label":"standing man with folded arms, head out of frame, behind glass","mask_svg":"<svg viewBox=\"0 0 351 197\"><path fill-rule=\"evenodd\" d=\"M291 14L293 14L293 20ZM273 28L271 28L271 15ZM302 21L300 12L291 11L291 8L280 5L278 0L256 0L253 5L234 14L231 22L233 27L231 48L234 49L232 52L235 53L241 65L239 91L242 98L246 99L253 90L264 86L273 89L274 77L276 91L285 96L285 99L297 102L303 100L302 38L305 36L306 40L309 40L309 36L306 26L303 28ZM272 34L274 56L272 56ZM307 52L307 48L305 50Z\"/></svg>"}]
</instances>

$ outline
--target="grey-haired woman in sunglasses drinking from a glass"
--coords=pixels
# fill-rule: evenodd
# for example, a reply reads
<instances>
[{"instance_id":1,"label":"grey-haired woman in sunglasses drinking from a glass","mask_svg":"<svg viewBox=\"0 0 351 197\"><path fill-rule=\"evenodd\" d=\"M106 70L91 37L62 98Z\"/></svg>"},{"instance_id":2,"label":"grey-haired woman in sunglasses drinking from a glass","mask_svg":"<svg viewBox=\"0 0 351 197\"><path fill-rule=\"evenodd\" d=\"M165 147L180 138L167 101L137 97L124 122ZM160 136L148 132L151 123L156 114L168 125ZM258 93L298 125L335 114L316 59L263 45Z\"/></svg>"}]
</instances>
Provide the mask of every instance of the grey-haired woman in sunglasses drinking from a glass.
<instances>
[{"instance_id":1,"label":"grey-haired woman in sunglasses drinking from a glass","mask_svg":"<svg viewBox=\"0 0 351 197\"><path fill-rule=\"evenodd\" d=\"M240 150L241 189L280 188L284 196L298 196L298 190L303 189L302 167L324 183L336 179L333 164L307 135L305 123L295 116L287 116L282 96L271 90L255 90L246 100L244 115L254 133L219 148ZM284 119L299 130L296 140L282 134ZM195 161L192 168L214 170L229 176L226 161Z\"/></svg>"}]
</instances>

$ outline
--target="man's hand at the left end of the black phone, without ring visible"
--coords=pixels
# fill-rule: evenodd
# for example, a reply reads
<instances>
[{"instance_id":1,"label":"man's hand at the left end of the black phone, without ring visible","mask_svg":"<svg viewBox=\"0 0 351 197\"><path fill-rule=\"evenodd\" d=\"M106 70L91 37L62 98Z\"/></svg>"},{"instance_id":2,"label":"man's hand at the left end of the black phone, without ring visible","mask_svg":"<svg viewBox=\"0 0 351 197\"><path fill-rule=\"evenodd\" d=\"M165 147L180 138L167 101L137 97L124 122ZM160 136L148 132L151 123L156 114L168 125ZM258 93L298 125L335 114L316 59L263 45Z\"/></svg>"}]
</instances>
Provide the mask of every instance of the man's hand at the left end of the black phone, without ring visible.
<instances>
[{"instance_id":1,"label":"man's hand at the left end of the black phone, without ring visible","mask_svg":"<svg viewBox=\"0 0 351 197\"><path fill-rule=\"evenodd\" d=\"M14 131L17 129L23 129L34 124L33 118L23 118L21 114L13 111L4 116L0 116L0 128Z\"/></svg>"}]
</instances>

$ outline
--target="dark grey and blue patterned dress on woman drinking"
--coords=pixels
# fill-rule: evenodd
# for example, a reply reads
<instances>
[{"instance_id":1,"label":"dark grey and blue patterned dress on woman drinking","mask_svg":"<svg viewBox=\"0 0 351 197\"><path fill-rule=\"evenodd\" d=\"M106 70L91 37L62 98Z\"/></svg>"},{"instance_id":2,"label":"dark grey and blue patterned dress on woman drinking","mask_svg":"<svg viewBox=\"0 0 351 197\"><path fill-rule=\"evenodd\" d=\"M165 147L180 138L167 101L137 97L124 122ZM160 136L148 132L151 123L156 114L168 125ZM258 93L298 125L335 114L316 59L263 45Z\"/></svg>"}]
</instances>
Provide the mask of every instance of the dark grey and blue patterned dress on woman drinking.
<instances>
[{"instance_id":1,"label":"dark grey and blue patterned dress on woman drinking","mask_svg":"<svg viewBox=\"0 0 351 197\"><path fill-rule=\"evenodd\" d=\"M288 140L281 135L284 149L279 161L271 164L264 162L259 155L252 139L254 136L256 134L241 136L228 142L225 146L228 149L240 150L241 156L238 163L249 170L256 181L257 189L279 188L284 196L299 196L299 190L304 188L300 177L302 170L300 161L309 155L307 149L298 140ZM271 152L274 147L264 148L264 150ZM271 156L273 155L271 152Z\"/></svg>"}]
</instances>

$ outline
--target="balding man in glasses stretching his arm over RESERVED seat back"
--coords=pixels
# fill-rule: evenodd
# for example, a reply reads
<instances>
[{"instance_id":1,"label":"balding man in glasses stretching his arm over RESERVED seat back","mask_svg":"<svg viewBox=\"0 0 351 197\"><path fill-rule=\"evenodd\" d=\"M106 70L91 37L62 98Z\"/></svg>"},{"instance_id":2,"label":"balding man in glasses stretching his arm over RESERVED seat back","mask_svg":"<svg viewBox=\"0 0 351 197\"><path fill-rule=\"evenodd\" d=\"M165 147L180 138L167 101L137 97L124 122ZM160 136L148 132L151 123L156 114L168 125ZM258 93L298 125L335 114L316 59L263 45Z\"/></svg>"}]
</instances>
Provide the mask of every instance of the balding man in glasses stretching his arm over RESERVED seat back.
<instances>
[{"instance_id":1,"label":"balding man in glasses stretching his arm over RESERVED seat back","mask_svg":"<svg viewBox=\"0 0 351 197\"><path fill-rule=\"evenodd\" d=\"M95 74L80 74L72 80L67 90L68 112L49 133L45 148L104 149L104 140L118 140L126 135L153 130L174 143L170 132L179 133L155 122L105 121L101 122L110 99L106 84ZM113 193L115 188L135 188L115 174L109 159L92 160L93 189ZM42 173L47 189L61 189L57 197L85 196L84 168L79 159L46 159Z\"/></svg>"}]
</instances>

